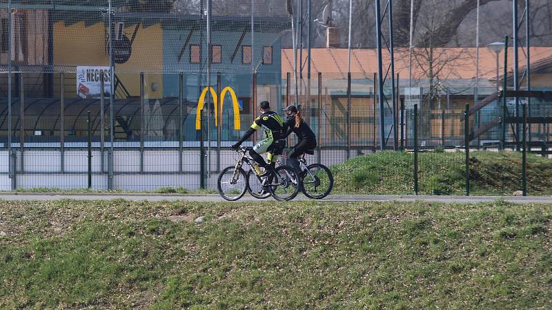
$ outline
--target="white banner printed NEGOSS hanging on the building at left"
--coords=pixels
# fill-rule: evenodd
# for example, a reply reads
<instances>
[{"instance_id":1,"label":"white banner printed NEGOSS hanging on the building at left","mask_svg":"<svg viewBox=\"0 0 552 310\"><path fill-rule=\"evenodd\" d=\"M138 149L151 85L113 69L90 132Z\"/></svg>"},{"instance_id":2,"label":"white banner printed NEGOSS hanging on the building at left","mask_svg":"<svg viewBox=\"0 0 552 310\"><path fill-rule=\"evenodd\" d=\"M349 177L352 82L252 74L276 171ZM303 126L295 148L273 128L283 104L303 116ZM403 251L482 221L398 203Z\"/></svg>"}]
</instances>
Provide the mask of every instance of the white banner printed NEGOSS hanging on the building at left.
<instances>
[{"instance_id":1,"label":"white banner printed NEGOSS hanging on the building at left","mask_svg":"<svg viewBox=\"0 0 552 310\"><path fill-rule=\"evenodd\" d=\"M109 96L111 74L109 67L77 67L77 95L87 99L98 99L101 94L101 73L103 73L103 93Z\"/></svg>"}]
</instances>

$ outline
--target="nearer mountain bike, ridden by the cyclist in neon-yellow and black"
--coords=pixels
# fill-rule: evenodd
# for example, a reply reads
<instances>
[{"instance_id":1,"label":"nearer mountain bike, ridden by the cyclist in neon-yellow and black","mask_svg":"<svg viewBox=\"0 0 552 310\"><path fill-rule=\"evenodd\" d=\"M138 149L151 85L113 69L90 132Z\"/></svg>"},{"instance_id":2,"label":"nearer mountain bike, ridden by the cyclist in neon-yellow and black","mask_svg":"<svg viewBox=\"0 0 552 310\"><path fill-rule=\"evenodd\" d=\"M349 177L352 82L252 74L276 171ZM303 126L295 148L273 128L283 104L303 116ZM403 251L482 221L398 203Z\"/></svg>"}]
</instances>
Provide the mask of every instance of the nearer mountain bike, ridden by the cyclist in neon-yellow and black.
<instances>
[{"instance_id":1,"label":"nearer mountain bike, ridden by the cyclist in neon-yellow and black","mask_svg":"<svg viewBox=\"0 0 552 310\"><path fill-rule=\"evenodd\" d=\"M255 160L247 155L251 149L251 147L240 147L237 150L239 158L236 165L226 167L221 171L217 180L220 195L228 201L239 200L246 191L250 190L249 179L251 179L260 184L262 195L266 195L266 197L272 195L277 201L288 201L295 198L299 193L300 186L297 182L292 182L292 180L297 180L297 173L290 166L284 165L269 169L266 175L255 173L255 178L246 175L242 168L244 163L250 167L250 171L255 171L253 168Z\"/></svg>"}]
</instances>

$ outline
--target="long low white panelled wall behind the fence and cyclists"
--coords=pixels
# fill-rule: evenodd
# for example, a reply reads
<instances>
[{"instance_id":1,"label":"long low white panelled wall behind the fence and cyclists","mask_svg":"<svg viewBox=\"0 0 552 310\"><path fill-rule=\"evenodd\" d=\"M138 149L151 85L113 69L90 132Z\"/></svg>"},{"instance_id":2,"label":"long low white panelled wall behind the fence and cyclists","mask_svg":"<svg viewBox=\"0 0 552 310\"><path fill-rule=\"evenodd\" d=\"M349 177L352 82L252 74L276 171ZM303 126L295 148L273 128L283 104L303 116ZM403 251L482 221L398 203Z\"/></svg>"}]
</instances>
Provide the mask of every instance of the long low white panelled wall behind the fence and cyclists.
<instances>
[{"instance_id":1,"label":"long low white panelled wall behind the fence and cyclists","mask_svg":"<svg viewBox=\"0 0 552 310\"><path fill-rule=\"evenodd\" d=\"M368 153L363 151L363 153ZM211 148L210 177L206 177L208 188L217 187L217 149ZM357 151L351 151L356 155ZM58 149L25 150L23 157L17 151L17 188L86 188L88 186L88 151L66 149L63 153L63 173L61 173L61 151ZM92 152L92 188L108 189L108 153L104 153L103 172L101 171L101 153ZM139 151L115 151L113 154L113 187L128 191L150 191L171 186L190 190L199 188L199 150L186 150L182 154L182 167L179 171L179 152L177 150L144 151L144 173L140 173ZM344 150L322 150L322 164L330 166L346 160ZM233 166L237 153L228 149L221 150L220 168ZM23 169L21 169L23 158ZM317 162L317 154L310 155L308 162ZM208 157L205 157L208 165ZM10 191L11 180L8 176L8 152L0 151L0 191Z\"/></svg>"}]
</instances>

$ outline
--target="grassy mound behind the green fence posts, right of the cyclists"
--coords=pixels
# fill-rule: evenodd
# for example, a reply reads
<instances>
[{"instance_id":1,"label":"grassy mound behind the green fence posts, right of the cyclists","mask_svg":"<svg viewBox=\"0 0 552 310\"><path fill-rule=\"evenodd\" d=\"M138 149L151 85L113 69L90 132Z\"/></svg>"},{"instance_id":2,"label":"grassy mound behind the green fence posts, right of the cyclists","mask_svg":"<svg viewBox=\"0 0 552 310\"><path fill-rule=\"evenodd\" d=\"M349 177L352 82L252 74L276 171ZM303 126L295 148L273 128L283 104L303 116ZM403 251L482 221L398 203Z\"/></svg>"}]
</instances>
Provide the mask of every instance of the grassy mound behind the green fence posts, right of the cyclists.
<instances>
[{"instance_id":1,"label":"grassy mound behind the green fence posts, right of the cyclists","mask_svg":"<svg viewBox=\"0 0 552 310\"><path fill-rule=\"evenodd\" d=\"M421 194L464 195L464 152L419 156ZM335 165L333 193L412 194L413 158L412 153L381 152ZM522 189L520 153L480 151L472 152L471 158L471 193L512 195ZM529 195L552 195L552 159L529 154L527 166Z\"/></svg>"}]
</instances>

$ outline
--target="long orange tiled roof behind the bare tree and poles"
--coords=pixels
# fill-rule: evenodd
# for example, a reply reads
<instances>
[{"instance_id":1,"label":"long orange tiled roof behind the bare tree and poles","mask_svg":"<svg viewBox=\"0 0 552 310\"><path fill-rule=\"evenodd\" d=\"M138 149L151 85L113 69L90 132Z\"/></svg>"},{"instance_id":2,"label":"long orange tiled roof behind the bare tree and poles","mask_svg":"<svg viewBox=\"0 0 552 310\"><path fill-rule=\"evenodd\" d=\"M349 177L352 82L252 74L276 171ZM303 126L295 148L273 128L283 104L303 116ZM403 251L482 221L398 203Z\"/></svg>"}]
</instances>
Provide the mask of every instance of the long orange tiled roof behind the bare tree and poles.
<instances>
[{"instance_id":1,"label":"long orange tiled roof behind the bare tree and poles","mask_svg":"<svg viewBox=\"0 0 552 310\"><path fill-rule=\"evenodd\" d=\"M415 54L422 53L421 48L415 49ZM317 75L322 72L325 77L347 77L347 59L348 51L346 48L313 48L311 50L313 62L311 64L311 74ZM435 48L433 55L442 65L439 76L453 79L473 79L475 77L475 48ZM495 52L489 48L480 48L480 78L494 79L496 77L496 56ZM388 52L383 52L384 64L389 63ZM504 51L500 53L500 74L502 75L502 66L504 66ZM299 58L299 57L297 57ZM306 49L303 50L303 59L306 58ZM446 61L444 60L446 59ZM508 50L509 66L513 63L513 48ZM519 52L520 68L524 68L526 58L522 48ZM531 64L541 64L543 61L552 63L551 47L532 47ZM422 67L420 67L420 64ZM425 77L426 74L422 68L427 68L424 57L413 57L413 77ZM386 68L386 67L384 67ZM306 75L306 66L303 72ZM384 69L385 70L385 69ZM509 70L511 71L511 70ZM282 72L293 72L293 50L282 50ZM351 50L351 75L353 77L373 77L373 72L377 72L377 54L373 48L353 49ZM408 48L397 48L395 50L395 72L401 77L408 76Z\"/></svg>"}]
</instances>

